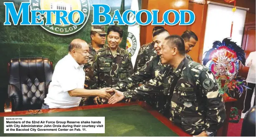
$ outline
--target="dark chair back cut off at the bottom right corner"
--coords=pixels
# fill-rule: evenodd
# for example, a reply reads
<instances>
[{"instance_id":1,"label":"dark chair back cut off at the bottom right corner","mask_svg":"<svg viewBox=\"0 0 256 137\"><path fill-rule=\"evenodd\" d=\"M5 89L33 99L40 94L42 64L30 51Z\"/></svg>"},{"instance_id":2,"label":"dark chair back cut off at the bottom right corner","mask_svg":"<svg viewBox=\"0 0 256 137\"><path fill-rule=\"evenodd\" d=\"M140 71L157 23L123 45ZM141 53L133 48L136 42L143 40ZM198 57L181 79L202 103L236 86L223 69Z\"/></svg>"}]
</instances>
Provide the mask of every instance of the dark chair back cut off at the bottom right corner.
<instances>
[{"instance_id":1,"label":"dark chair back cut off at the bottom right corner","mask_svg":"<svg viewBox=\"0 0 256 137\"><path fill-rule=\"evenodd\" d=\"M255 106L253 106L244 116L241 137L255 137L255 132Z\"/></svg>"}]
</instances>

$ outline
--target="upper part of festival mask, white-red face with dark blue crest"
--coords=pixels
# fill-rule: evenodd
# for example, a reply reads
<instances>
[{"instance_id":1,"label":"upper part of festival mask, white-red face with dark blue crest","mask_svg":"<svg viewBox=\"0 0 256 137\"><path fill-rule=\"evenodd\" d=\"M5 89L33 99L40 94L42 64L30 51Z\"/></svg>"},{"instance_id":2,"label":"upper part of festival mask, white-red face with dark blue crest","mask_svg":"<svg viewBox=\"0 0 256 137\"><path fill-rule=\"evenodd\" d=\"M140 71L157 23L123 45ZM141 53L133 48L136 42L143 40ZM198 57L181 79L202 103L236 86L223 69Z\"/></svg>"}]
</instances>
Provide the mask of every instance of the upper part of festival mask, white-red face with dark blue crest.
<instances>
[{"instance_id":1,"label":"upper part of festival mask, white-red face with dark blue crest","mask_svg":"<svg viewBox=\"0 0 256 137\"><path fill-rule=\"evenodd\" d=\"M207 65L209 69L219 76L222 80L233 79L239 70L238 61L245 65L245 53L240 46L237 46L231 39L225 38L222 43L220 41L213 42L213 48L205 52L203 65Z\"/></svg>"}]
</instances>

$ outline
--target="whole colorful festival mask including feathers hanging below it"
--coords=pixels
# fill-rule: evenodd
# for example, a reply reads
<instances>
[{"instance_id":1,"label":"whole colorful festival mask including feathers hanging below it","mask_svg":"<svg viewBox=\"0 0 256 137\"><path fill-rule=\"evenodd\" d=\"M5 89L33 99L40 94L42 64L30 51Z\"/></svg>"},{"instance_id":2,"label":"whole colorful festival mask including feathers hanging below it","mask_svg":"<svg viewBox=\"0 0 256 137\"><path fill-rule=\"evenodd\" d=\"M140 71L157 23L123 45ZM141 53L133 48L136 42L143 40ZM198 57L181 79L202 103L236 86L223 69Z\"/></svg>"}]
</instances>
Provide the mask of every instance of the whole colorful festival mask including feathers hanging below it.
<instances>
[{"instance_id":1,"label":"whole colorful festival mask including feathers hanging below it","mask_svg":"<svg viewBox=\"0 0 256 137\"><path fill-rule=\"evenodd\" d=\"M220 93L228 93L228 90L243 93L243 87L248 88L244 78L237 76L239 61L245 65L245 53L241 46L231 39L225 38L222 42L213 42L213 48L205 52L203 65L207 66L215 75L221 89ZM225 81L224 86L222 81Z\"/></svg>"}]
</instances>

